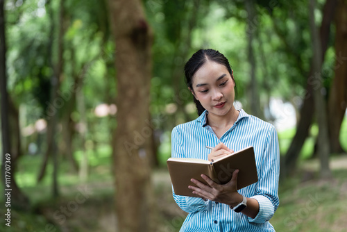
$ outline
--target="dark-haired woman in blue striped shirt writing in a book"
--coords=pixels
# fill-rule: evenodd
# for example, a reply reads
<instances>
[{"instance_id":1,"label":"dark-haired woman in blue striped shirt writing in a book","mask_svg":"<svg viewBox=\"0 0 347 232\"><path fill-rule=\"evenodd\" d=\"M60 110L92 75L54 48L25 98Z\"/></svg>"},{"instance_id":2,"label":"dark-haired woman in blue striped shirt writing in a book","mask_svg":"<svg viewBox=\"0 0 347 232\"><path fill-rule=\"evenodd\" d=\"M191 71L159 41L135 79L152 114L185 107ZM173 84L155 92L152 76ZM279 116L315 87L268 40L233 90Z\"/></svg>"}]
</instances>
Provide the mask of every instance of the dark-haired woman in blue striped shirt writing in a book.
<instances>
[{"instance_id":1,"label":"dark-haired woman in blue striped shirt writing in a book","mask_svg":"<svg viewBox=\"0 0 347 232\"><path fill-rule=\"evenodd\" d=\"M235 109L235 79L219 51L194 53L185 65L185 77L199 117L173 129L172 157L216 160L253 146L258 181L237 191L238 170L225 185L205 175L208 185L192 179L195 185L189 189L196 197L174 193L178 206L189 213L180 231L275 231L269 223L279 204L280 156L274 126Z\"/></svg>"}]
</instances>

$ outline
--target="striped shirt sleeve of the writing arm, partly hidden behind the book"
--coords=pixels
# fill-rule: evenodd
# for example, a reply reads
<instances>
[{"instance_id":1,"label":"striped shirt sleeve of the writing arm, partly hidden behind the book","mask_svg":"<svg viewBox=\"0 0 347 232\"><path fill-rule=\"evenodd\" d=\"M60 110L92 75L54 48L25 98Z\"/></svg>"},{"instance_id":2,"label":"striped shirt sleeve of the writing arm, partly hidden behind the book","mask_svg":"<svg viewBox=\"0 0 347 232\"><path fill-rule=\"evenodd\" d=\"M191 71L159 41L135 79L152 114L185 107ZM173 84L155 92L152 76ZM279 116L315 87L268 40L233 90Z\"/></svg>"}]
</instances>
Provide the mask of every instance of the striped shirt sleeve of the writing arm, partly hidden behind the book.
<instances>
[{"instance_id":1,"label":"striped shirt sleeve of the writing arm, partly hidden behind the book","mask_svg":"<svg viewBox=\"0 0 347 232\"><path fill-rule=\"evenodd\" d=\"M183 140L180 135L180 131L177 126L172 130L171 133L171 156L176 158L185 157L183 153ZM176 195L174 188L172 188L172 193L176 204L187 213L194 213L197 211L205 211L207 208L207 201L201 199L201 197L186 197L181 195Z\"/></svg>"}]
</instances>

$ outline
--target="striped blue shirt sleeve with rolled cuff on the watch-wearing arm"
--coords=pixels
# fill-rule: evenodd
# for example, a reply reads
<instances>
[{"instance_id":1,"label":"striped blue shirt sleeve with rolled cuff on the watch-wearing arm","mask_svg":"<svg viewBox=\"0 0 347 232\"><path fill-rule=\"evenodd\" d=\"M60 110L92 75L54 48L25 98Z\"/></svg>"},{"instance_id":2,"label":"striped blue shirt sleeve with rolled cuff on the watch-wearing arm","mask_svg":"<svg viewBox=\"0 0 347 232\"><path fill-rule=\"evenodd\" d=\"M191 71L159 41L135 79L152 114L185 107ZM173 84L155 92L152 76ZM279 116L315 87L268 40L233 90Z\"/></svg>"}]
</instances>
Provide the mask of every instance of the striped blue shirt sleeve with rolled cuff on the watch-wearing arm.
<instances>
[{"instance_id":1,"label":"striped blue shirt sleeve with rolled cuff on the watch-wearing arm","mask_svg":"<svg viewBox=\"0 0 347 232\"><path fill-rule=\"evenodd\" d=\"M262 157L256 193L251 197L258 201L259 212L254 219L248 217L248 222L253 223L264 223L269 221L280 204L278 199L280 148L276 129L272 125L266 135L266 146Z\"/></svg>"}]
</instances>

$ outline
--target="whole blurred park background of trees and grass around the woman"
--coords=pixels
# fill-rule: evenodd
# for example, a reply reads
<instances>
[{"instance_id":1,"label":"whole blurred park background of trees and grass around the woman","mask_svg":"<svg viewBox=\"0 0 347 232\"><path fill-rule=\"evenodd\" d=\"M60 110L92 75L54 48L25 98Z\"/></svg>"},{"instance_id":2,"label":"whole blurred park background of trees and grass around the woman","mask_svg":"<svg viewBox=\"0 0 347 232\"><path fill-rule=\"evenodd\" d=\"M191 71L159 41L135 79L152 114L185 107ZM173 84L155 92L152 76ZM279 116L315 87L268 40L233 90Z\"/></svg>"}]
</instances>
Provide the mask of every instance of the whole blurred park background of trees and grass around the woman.
<instances>
[{"instance_id":1,"label":"whole blurred park background of trees and grass around the woman","mask_svg":"<svg viewBox=\"0 0 347 232\"><path fill-rule=\"evenodd\" d=\"M236 108L276 126L276 231L346 231L346 1L0 0L0 12L0 231L179 231L166 160L171 130L198 117L183 66L201 48L230 61Z\"/></svg>"}]
</instances>

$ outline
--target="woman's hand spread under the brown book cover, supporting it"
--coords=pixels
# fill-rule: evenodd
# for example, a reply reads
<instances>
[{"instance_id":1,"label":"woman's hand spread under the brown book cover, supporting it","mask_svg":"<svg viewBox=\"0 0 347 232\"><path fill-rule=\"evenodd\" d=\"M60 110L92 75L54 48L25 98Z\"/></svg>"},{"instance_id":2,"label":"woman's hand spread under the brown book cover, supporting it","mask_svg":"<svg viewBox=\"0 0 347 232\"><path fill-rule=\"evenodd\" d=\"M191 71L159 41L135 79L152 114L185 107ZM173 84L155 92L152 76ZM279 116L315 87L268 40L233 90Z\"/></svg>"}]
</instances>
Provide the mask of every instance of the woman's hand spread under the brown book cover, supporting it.
<instances>
[{"instance_id":1,"label":"woman's hand spread under the brown book cover, supporting it","mask_svg":"<svg viewBox=\"0 0 347 232\"><path fill-rule=\"evenodd\" d=\"M192 179L191 181L198 187L189 185L188 188L193 190L194 194L197 194L203 199L217 201L229 206L236 206L242 201L242 195L237 192L238 173L239 170L235 170L235 172L232 173L231 180L224 185L219 185L212 181L208 176L202 174L201 177L208 183L208 185L205 185L196 179Z\"/></svg>"}]
</instances>

